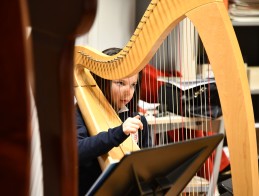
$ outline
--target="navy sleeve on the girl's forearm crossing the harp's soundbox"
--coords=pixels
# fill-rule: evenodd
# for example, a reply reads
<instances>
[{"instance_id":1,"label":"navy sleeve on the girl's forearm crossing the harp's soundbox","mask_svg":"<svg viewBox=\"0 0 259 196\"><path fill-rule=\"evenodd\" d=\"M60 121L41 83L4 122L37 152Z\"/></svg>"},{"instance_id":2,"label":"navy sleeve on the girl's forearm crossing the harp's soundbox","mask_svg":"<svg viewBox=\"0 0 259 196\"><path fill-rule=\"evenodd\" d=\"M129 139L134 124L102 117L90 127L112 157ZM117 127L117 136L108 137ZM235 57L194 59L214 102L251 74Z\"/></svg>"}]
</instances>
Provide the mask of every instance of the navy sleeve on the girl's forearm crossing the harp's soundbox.
<instances>
[{"instance_id":1,"label":"navy sleeve on the girl's forearm crossing the harp's soundbox","mask_svg":"<svg viewBox=\"0 0 259 196\"><path fill-rule=\"evenodd\" d=\"M124 134L122 125L90 136L78 106L76 106L76 129L80 163L109 152L128 137Z\"/></svg>"}]
</instances>

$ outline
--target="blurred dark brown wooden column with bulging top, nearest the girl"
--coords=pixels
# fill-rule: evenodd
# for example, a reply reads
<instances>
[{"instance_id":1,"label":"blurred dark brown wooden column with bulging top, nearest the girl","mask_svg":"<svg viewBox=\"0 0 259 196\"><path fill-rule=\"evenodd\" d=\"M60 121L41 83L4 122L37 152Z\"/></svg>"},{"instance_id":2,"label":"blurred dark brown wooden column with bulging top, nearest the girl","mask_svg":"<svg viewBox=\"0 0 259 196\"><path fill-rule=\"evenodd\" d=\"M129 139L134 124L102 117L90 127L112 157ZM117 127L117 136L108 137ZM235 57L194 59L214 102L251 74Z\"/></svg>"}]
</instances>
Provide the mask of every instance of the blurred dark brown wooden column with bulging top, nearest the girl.
<instances>
[{"instance_id":1,"label":"blurred dark brown wooden column with bulging top, nearest the girl","mask_svg":"<svg viewBox=\"0 0 259 196\"><path fill-rule=\"evenodd\" d=\"M77 195L73 50L76 36L93 24L97 1L66 1L62 5L50 0L19 2L28 3L34 76L31 85L39 120L43 168L44 190L38 186L41 179L35 172L30 194Z\"/></svg>"}]
</instances>

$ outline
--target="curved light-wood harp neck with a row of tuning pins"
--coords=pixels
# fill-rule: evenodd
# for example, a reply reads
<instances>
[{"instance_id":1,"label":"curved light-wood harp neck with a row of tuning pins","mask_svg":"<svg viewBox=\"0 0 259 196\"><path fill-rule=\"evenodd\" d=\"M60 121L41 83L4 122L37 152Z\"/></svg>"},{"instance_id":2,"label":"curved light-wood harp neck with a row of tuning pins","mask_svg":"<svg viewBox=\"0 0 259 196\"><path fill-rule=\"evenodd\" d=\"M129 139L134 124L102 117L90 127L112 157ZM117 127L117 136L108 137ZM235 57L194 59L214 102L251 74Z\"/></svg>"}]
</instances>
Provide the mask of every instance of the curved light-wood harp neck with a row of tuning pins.
<instances>
[{"instance_id":1,"label":"curved light-wood harp neck with a row of tuning pins","mask_svg":"<svg viewBox=\"0 0 259 196\"><path fill-rule=\"evenodd\" d=\"M123 50L107 56L86 47L76 47L75 63L106 79L124 78L138 73L148 63L165 37L193 8L220 0L153 0L130 41ZM163 21L163 22L162 22Z\"/></svg>"}]
</instances>

